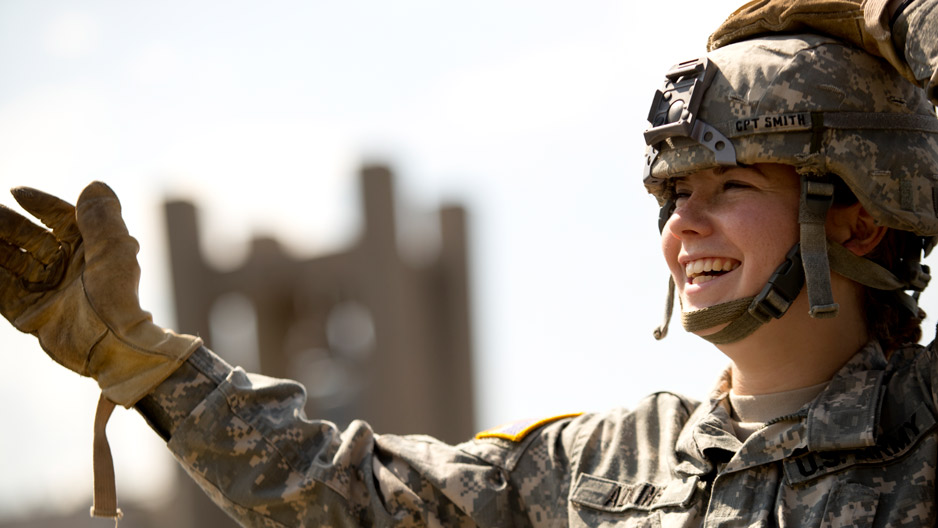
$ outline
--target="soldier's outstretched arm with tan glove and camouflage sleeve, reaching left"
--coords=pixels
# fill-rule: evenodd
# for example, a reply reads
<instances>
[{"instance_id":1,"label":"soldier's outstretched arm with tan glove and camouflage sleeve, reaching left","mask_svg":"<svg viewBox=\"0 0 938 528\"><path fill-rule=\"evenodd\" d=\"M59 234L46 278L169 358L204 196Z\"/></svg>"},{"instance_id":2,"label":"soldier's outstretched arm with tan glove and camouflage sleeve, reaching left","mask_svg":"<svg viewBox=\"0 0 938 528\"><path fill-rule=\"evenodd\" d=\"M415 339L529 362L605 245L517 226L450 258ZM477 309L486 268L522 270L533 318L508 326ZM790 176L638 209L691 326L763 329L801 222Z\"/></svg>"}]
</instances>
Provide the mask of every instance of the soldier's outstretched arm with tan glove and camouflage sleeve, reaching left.
<instances>
[{"instance_id":1,"label":"soldier's outstretched arm with tan glove and camouflage sleeve, reaching left","mask_svg":"<svg viewBox=\"0 0 938 528\"><path fill-rule=\"evenodd\" d=\"M135 406L242 525L529 525L524 501L544 523L563 522L564 456L309 420L300 384L232 368L140 309L137 242L110 188L89 185L75 206L34 189L13 194L47 228L0 206L0 312L55 361L96 379L102 402ZM546 482L523 498L516 478ZM112 506L101 513L119 515L116 499Z\"/></svg>"}]
</instances>

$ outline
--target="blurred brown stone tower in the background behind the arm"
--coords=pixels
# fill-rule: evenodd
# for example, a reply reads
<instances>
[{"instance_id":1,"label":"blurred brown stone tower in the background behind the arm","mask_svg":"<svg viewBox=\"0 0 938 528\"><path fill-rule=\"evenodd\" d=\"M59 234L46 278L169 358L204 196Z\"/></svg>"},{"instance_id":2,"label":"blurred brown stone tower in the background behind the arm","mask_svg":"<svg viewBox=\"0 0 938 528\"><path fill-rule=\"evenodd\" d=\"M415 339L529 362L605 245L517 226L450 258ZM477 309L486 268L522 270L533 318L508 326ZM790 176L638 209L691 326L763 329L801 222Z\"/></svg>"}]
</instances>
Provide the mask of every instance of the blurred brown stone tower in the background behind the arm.
<instances>
[{"instance_id":1,"label":"blurred brown stone tower in the background behind the arm","mask_svg":"<svg viewBox=\"0 0 938 528\"><path fill-rule=\"evenodd\" d=\"M346 250L294 258L261 238L224 271L202 256L195 205L167 203L177 328L231 363L303 382L307 416L465 440L474 431L465 212L439 211L437 257L415 266L401 259L391 171L364 167L361 189L363 229ZM222 342L244 346L232 357L214 348ZM235 526L180 480L193 528Z\"/></svg>"}]
</instances>

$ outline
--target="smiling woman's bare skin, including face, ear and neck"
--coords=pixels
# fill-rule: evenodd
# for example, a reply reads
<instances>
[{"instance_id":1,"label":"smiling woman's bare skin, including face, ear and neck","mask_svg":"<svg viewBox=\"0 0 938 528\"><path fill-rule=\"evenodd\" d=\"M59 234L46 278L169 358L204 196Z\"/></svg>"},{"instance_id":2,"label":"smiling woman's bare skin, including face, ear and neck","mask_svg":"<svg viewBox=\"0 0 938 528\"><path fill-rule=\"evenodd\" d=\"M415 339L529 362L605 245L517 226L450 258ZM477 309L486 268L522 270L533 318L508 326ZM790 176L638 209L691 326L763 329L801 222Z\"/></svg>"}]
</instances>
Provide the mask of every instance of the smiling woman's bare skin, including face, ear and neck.
<instances>
[{"instance_id":1,"label":"smiling woman's bare skin, including face, ear and neck","mask_svg":"<svg viewBox=\"0 0 938 528\"><path fill-rule=\"evenodd\" d=\"M849 194L838 181L836 187ZM714 320L714 307L748 308L779 263L787 263L787 255L798 248L801 178L790 165L757 163L675 178L673 189L674 211L664 225L662 248L685 327L712 336L730 323ZM827 240L857 256L869 253L886 233L855 198L851 205L829 210L825 230ZM759 332L753 328L752 335L716 343L733 360L735 394L779 393L824 382L867 342L863 293L871 288L839 273L830 281L837 317L811 317L802 294L784 317ZM805 335L813 338L805 342Z\"/></svg>"}]
</instances>

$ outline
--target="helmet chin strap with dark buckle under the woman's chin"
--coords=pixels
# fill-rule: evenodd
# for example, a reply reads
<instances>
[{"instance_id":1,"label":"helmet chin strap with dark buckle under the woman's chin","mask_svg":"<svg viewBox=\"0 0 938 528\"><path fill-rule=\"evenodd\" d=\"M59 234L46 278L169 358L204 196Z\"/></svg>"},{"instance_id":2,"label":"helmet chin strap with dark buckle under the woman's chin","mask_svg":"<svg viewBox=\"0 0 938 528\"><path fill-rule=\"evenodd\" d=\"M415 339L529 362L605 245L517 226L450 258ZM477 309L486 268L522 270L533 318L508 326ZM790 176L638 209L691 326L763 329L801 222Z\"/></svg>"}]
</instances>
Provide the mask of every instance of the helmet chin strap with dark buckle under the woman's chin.
<instances>
[{"instance_id":1,"label":"helmet chin strap with dark buckle under the woman's chin","mask_svg":"<svg viewBox=\"0 0 938 528\"><path fill-rule=\"evenodd\" d=\"M758 295L682 312L681 324L684 329L688 332L699 332L726 324L721 330L701 337L716 345L734 343L748 337L770 320L785 315L806 283L810 304L808 313L811 317L834 317L837 315L838 305L834 302L831 291L831 270L871 288L896 291L903 298L903 304L914 309L915 299L903 293L903 290L921 291L927 284L927 279L924 284L917 283L921 281L900 280L873 261L858 257L840 244L827 240L825 221L827 211L833 203L833 191L834 186L829 179L802 175L798 212L800 243L788 251L784 262L775 269ZM667 212L669 216L670 212ZM662 216L664 215L662 208ZM663 228L663 223L659 220L659 228ZM927 270L925 276L927 277ZM667 335L673 304L672 278L668 287L665 321L655 329L656 339Z\"/></svg>"}]
</instances>

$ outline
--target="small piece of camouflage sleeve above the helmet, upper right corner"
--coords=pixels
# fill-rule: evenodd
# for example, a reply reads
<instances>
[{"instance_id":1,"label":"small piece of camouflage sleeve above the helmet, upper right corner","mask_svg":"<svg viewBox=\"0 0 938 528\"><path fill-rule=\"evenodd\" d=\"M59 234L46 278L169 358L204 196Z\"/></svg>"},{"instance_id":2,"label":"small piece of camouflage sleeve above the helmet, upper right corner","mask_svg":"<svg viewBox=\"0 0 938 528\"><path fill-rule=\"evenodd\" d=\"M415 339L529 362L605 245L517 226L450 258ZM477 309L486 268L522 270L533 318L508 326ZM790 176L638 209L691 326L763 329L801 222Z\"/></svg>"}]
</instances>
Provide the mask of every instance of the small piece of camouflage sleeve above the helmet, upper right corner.
<instances>
[{"instance_id":1,"label":"small piece of camouflage sleeve above the helmet, upper right corner","mask_svg":"<svg viewBox=\"0 0 938 528\"><path fill-rule=\"evenodd\" d=\"M938 0L914 0L892 25L893 42L938 104Z\"/></svg>"}]
</instances>

